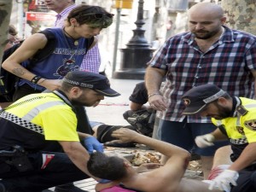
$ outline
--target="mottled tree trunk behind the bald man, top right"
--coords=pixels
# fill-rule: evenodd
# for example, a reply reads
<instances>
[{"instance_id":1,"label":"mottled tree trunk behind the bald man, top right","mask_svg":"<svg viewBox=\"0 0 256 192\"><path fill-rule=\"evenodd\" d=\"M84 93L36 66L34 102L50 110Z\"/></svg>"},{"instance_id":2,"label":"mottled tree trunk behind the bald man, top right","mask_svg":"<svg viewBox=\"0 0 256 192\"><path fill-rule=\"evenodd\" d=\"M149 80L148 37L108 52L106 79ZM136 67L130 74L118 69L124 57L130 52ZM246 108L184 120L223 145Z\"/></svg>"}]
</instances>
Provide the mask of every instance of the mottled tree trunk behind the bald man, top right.
<instances>
[{"instance_id":1,"label":"mottled tree trunk behind the bald man, top right","mask_svg":"<svg viewBox=\"0 0 256 192\"><path fill-rule=\"evenodd\" d=\"M222 0L227 25L256 35L256 0Z\"/></svg>"}]
</instances>

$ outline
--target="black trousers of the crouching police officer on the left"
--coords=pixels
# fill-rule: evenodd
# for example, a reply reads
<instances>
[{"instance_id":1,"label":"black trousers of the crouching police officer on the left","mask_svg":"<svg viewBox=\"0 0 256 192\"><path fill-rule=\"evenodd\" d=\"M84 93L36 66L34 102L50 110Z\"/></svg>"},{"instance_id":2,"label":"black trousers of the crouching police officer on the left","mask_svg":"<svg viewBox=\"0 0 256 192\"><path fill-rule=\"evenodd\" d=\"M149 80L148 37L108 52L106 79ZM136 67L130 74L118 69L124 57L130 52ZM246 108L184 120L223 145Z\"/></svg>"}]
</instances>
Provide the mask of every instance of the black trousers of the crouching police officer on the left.
<instances>
[{"instance_id":1,"label":"black trousers of the crouching police officer on the left","mask_svg":"<svg viewBox=\"0 0 256 192\"><path fill-rule=\"evenodd\" d=\"M42 168L43 154L54 154L47 166ZM44 189L73 183L85 178L89 178L64 153L38 152L27 154L32 163L32 170L19 172L15 166L3 162L0 163L1 183L10 186L15 192L39 192ZM44 161L45 162L45 161Z\"/></svg>"}]
</instances>

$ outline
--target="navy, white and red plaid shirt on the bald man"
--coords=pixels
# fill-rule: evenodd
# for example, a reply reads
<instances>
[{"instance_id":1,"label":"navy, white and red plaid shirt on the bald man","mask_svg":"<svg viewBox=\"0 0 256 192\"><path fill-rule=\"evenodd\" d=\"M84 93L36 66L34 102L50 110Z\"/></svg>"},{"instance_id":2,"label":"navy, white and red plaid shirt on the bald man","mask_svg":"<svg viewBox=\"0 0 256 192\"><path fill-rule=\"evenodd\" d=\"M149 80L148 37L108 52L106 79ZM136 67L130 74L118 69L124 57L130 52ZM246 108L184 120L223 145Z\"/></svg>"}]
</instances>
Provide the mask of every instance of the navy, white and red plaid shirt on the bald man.
<instances>
[{"instance_id":1,"label":"navy, white and red plaid shirt on the bald man","mask_svg":"<svg viewBox=\"0 0 256 192\"><path fill-rule=\"evenodd\" d=\"M193 86L216 84L231 96L253 98L253 71L256 69L256 37L224 26L223 36L202 52L191 32L169 38L148 65L166 70L161 89L168 109L161 119L183 121L181 96ZM188 116L189 123L210 123L211 119Z\"/></svg>"}]
</instances>

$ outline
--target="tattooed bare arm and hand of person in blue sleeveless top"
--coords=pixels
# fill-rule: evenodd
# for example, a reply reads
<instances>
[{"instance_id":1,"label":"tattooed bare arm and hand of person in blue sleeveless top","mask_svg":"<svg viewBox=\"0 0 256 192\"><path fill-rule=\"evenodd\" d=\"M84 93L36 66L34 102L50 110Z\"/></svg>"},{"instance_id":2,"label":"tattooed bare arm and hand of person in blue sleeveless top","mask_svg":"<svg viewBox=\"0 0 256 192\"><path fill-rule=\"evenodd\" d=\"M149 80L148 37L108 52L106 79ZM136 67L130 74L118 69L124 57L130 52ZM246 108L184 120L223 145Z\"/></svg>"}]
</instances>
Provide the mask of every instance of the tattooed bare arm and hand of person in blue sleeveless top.
<instances>
[{"instance_id":1,"label":"tattooed bare arm and hand of person in blue sleeveless top","mask_svg":"<svg viewBox=\"0 0 256 192\"><path fill-rule=\"evenodd\" d=\"M27 38L20 45L20 48L16 49L9 58L3 61L2 67L22 79L31 81L36 74L31 73L25 67L22 67L20 63L32 58L32 55L35 55L38 49L43 49L45 44L47 44L47 38L44 34L36 33L32 35ZM61 82L58 79L40 79L38 84L44 86L48 90L56 90L61 86Z\"/></svg>"}]
</instances>

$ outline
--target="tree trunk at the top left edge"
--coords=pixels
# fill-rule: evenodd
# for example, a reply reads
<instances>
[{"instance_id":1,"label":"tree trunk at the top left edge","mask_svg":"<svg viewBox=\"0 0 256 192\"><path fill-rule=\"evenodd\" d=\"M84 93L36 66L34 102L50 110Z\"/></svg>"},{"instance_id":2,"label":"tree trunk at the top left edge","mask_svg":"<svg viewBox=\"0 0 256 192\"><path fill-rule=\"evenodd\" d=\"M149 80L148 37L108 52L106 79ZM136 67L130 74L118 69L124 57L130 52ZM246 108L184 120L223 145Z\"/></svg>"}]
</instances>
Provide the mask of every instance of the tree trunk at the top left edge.
<instances>
[{"instance_id":1,"label":"tree trunk at the top left edge","mask_svg":"<svg viewBox=\"0 0 256 192\"><path fill-rule=\"evenodd\" d=\"M12 0L0 0L0 61L3 58L3 49L8 42L9 20L12 12Z\"/></svg>"}]
</instances>

